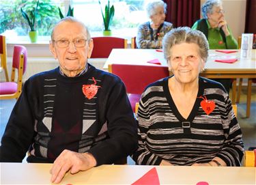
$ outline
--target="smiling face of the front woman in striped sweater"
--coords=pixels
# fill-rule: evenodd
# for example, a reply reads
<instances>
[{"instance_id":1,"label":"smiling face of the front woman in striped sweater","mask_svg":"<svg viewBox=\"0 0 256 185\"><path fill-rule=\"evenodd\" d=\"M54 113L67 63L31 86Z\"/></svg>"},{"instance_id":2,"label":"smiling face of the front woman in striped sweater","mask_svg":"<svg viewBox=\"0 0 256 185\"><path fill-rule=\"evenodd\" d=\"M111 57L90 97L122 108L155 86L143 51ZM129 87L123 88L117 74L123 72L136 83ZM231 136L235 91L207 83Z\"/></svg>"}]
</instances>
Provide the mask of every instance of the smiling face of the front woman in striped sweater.
<instances>
[{"instance_id":1,"label":"smiling face of the front woman in striped sweater","mask_svg":"<svg viewBox=\"0 0 256 185\"><path fill-rule=\"evenodd\" d=\"M199 72L203 70L205 62L199 55L199 46L194 43L175 44L171 47L171 57L168 65L175 80L182 84L193 83L198 80Z\"/></svg>"}]
</instances>

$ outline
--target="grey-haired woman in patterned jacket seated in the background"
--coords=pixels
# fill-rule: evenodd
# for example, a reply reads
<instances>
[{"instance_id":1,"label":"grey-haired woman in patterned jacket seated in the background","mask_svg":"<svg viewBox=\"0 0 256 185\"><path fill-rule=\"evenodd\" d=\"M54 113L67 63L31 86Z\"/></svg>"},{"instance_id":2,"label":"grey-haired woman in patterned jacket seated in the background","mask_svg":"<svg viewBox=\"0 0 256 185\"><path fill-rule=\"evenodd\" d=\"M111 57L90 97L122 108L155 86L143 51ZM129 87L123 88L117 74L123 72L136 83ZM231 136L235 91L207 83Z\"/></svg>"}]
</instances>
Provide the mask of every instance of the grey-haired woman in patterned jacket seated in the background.
<instances>
[{"instance_id":1,"label":"grey-haired woman in patterned jacket seated in the background","mask_svg":"<svg viewBox=\"0 0 256 185\"><path fill-rule=\"evenodd\" d=\"M136 38L138 48L162 48L162 38L173 28L171 23L165 22L166 7L163 1L147 4L150 21L139 25Z\"/></svg>"}]
</instances>

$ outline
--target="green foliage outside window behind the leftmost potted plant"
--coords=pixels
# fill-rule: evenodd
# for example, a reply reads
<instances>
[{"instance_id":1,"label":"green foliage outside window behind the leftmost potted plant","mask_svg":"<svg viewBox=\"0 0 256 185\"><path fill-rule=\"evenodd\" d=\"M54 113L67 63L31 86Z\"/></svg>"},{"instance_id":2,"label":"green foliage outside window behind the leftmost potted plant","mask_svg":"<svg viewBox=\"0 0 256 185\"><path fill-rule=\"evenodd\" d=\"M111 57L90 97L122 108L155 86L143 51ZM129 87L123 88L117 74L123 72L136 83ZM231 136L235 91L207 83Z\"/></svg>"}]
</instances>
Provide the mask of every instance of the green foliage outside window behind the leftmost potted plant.
<instances>
[{"instance_id":1,"label":"green foliage outside window behind the leftmost potted plant","mask_svg":"<svg viewBox=\"0 0 256 185\"><path fill-rule=\"evenodd\" d=\"M37 1L35 0L0 0L0 33L5 30L15 30L18 35L27 35L30 27L23 18L20 8L26 12L33 11ZM30 16L28 14L28 16ZM38 14L35 17L36 29L39 35L51 35L51 31L59 21L58 8L53 0L39 0Z\"/></svg>"}]
</instances>

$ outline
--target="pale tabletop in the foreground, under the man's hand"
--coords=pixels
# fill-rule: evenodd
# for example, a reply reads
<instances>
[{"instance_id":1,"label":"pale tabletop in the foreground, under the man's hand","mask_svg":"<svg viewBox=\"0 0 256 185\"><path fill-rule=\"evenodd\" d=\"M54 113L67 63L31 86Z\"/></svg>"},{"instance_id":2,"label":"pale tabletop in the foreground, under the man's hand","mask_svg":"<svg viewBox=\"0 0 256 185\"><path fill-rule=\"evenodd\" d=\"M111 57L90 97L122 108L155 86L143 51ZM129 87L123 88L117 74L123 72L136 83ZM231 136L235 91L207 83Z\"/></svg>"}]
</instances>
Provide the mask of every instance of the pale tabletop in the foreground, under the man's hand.
<instances>
[{"instance_id":1,"label":"pale tabletop in the foreground, under the man's hand","mask_svg":"<svg viewBox=\"0 0 256 185\"><path fill-rule=\"evenodd\" d=\"M1 184L51 184L51 164L1 163ZM255 167L171 167L102 165L74 175L61 184L132 184L156 167L160 184L256 184Z\"/></svg>"}]
</instances>

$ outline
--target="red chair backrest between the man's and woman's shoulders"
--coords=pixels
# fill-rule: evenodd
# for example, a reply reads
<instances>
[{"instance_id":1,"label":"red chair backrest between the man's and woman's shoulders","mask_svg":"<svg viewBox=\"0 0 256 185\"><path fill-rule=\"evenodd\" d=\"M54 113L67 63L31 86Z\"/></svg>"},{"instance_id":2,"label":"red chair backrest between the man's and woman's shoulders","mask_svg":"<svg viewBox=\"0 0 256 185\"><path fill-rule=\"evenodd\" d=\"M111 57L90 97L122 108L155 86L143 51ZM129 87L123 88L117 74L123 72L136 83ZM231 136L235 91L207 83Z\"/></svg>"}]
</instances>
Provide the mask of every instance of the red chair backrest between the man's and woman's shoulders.
<instances>
[{"instance_id":1,"label":"red chair backrest between the man's and woman's shoulders","mask_svg":"<svg viewBox=\"0 0 256 185\"><path fill-rule=\"evenodd\" d=\"M167 66L109 64L109 72L122 79L128 94L141 94L150 83L169 76Z\"/></svg>"}]
</instances>

